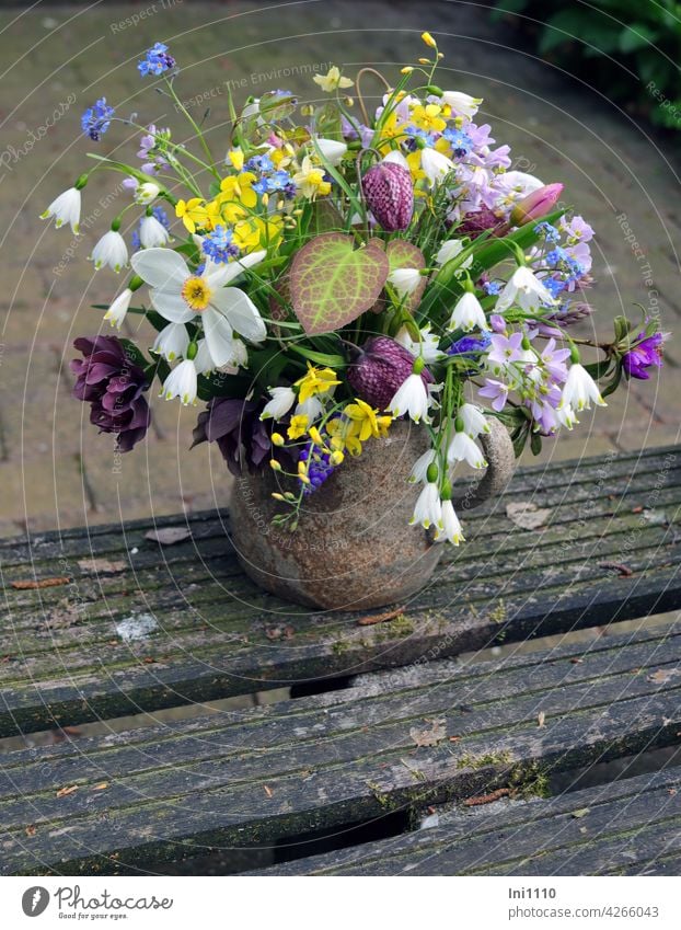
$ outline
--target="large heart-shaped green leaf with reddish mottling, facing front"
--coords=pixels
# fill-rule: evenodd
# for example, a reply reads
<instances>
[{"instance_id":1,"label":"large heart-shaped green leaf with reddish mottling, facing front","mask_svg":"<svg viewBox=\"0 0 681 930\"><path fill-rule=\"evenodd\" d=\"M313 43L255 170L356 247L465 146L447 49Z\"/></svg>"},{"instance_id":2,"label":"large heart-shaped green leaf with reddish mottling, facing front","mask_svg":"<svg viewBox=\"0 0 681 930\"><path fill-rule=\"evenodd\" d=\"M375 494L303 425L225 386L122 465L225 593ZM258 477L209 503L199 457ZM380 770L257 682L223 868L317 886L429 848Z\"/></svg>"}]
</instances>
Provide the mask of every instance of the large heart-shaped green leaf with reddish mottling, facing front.
<instances>
[{"instance_id":1,"label":"large heart-shaped green leaf with reddish mottling, facing front","mask_svg":"<svg viewBox=\"0 0 681 930\"><path fill-rule=\"evenodd\" d=\"M351 236L325 232L297 252L291 264L291 301L308 335L351 323L378 299L390 264L379 240L355 249Z\"/></svg>"}]
</instances>

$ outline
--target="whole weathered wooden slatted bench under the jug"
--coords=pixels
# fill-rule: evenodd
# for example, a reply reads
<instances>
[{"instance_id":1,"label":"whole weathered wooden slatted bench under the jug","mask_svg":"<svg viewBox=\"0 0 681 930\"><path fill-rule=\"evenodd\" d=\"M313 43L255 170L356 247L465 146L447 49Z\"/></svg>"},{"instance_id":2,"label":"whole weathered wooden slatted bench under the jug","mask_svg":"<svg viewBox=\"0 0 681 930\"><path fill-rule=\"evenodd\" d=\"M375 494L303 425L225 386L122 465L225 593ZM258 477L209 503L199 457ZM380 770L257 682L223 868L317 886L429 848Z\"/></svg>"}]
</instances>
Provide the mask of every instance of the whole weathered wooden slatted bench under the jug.
<instances>
[{"instance_id":1,"label":"whole weathered wooden slatted bench under the jug","mask_svg":"<svg viewBox=\"0 0 681 930\"><path fill-rule=\"evenodd\" d=\"M681 604L680 506L673 448L527 469L372 615L256 589L227 513L2 541L0 735L61 727L3 754L2 873L673 872L681 623L607 628Z\"/></svg>"}]
</instances>

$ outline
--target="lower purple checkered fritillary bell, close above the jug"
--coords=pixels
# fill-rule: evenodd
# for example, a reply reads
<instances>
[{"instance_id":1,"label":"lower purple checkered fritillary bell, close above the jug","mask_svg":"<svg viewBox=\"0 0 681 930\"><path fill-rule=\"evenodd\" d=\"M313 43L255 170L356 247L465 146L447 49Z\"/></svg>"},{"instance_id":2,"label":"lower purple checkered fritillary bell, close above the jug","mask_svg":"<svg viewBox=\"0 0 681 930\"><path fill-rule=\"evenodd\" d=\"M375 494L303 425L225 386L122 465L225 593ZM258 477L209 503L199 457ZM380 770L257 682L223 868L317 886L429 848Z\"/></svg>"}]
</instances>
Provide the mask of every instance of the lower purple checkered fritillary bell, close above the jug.
<instances>
[{"instance_id":1,"label":"lower purple checkered fritillary bell, close above the jug","mask_svg":"<svg viewBox=\"0 0 681 930\"><path fill-rule=\"evenodd\" d=\"M414 356L389 336L373 336L356 349L357 358L348 368L347 379L358 398L378 410L385 410L397 389L414 368ZM420 377L426 388L434 377L424 368Z\"/></svg>"}]
</instances>

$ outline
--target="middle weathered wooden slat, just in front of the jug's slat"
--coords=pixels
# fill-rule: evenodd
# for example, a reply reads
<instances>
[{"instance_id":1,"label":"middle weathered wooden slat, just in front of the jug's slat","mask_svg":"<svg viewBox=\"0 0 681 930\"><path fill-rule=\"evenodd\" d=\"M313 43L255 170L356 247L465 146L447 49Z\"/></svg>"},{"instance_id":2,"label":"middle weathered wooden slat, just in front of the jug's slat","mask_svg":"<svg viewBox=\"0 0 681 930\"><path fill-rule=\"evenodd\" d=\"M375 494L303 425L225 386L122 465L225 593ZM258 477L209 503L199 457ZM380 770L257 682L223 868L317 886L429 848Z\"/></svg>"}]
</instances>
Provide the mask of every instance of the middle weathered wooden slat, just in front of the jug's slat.
<instances>
[{"instance_id":1,"label":"middle weathered wooden slat, just in front of the jug's slat","mask_svg":"<svg viewBox=\"0 0 681 930\"><path fill-rule=\"evenodd\" d=\"M0 859L22 874L134 871L405 804L528 790L551 769L678 742L680 659L677 624L592 648L381 673L344 691L78 740L39 758L19 751L0 781Z\"/></svg>"}]
</instances>

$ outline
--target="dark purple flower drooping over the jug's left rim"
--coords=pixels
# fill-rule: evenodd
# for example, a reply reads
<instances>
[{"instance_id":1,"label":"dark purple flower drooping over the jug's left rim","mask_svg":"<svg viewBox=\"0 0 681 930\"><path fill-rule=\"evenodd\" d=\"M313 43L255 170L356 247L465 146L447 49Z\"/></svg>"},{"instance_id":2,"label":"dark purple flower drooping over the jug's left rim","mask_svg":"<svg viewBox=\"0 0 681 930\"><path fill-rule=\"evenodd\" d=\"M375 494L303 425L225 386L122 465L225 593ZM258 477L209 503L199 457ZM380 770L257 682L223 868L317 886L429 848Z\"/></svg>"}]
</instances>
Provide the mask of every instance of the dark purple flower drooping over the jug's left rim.
<instances>
[{"instance_id":1,"label":"dark purple flower drooping over the jug's left rim","mask_svg":"<svg viewBox=\"0 0 681 930\"><path fill-rule=\"evenodd\" d=\"M211 398L199 413L192 448L199 443L217 443L232 474L244 469L257 471L269 456L269 432L261 421L263 401L241 398Z\"/></svg>"}]
</instances>

